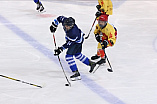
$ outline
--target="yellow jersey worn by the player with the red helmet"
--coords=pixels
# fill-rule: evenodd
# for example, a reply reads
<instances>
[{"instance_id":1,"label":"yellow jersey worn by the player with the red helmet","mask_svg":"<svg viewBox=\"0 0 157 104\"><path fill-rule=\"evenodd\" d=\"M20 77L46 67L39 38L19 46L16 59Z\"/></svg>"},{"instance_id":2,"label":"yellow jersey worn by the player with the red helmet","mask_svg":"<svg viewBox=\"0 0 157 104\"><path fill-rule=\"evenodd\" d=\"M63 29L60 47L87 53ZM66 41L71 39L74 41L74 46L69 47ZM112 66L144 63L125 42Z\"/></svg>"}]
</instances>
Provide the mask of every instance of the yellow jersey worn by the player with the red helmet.
<instances>
[{"instance_id":1,"label":"yellow jersey worn by the player with the red helmet","mask_svg":"<svg viewBox=\"0 0 157 104\"><path fill-rule=\"evenodd\" d=\"M96 29L94 30L94 34L99 34L100 37L102 37L102 41L107 40L109 43L108 46L113 46L117 39L117 31L109 23L107 23L106 27L104 27L103 29L101 29L100 26L97 24Z\"/></svg>"}]
</instances>

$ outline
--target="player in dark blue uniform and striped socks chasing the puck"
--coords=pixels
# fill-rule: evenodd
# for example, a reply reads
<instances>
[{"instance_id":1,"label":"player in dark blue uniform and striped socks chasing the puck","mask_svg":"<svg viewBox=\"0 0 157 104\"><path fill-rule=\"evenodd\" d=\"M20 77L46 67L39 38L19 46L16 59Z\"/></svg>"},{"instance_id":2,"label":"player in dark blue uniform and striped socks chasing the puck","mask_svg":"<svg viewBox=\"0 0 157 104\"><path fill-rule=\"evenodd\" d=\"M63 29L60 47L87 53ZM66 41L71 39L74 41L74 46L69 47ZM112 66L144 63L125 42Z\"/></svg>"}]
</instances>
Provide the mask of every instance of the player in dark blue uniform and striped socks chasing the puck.
<instances>
[{"instance_id":1,"label":"player in dark blue uniform and striped socks chasing the puck","mask_svg":"<svg viewBox=\"0 0 157 104\"><path fill-rule=\"evenodd\" d=\"M77 27L74 18L59 16L57 17L57 19L54 19L52 25L50 26L50 31L52 33L56 31L59 23L62 23L63 29L66 33L65 35L66 42L61 47L58 47L57 49L54 50L55 51L54 55L59 55L63 50L67 49L65 59L70 69L74 73L72 76L70 76L70 79L72 81L80 80L81 76L73 57L80 60L85 65L90 66L89 72L93 71L96 64L90 61L88 57L81 53L82 44L84 41L83 37L84 33Z\"/></svg>"}]
</instances>

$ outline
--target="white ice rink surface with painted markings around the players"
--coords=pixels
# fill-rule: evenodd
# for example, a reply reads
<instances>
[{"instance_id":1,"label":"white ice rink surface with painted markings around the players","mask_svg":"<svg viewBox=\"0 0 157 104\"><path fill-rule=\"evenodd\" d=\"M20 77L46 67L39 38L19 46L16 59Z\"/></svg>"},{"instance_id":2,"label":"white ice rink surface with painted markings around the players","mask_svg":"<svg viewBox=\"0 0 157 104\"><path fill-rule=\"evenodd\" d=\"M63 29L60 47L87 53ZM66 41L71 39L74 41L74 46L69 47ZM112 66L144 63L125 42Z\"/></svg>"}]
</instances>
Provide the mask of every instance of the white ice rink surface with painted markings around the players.
<instances>
[{"instance_id":1,"label":"white ice rink surface with painted markings around the players","mask_svg":"<svg viewBox=\"0 0 157 104\"><path fill-rule=\"evenodd\" d=\"M82 80L67 83L57 57L49 26L59 15L72 16L88 34L94 21L97 0L45 0L46 12L38 13L33 0L0 1L0 104L156 104L157 103L157 1L113 0L109 23L118 29L118 39L106 50L109 65L95 74L76 61ZM94 27L95 28L95 27ZM83 44L83 54L96 53L93 31ZM59 25L57 46L65 40ZM72 75L60 55L65 73ZM70 80L70 79L69 79Z\"/></svg>"}]
</instances>

